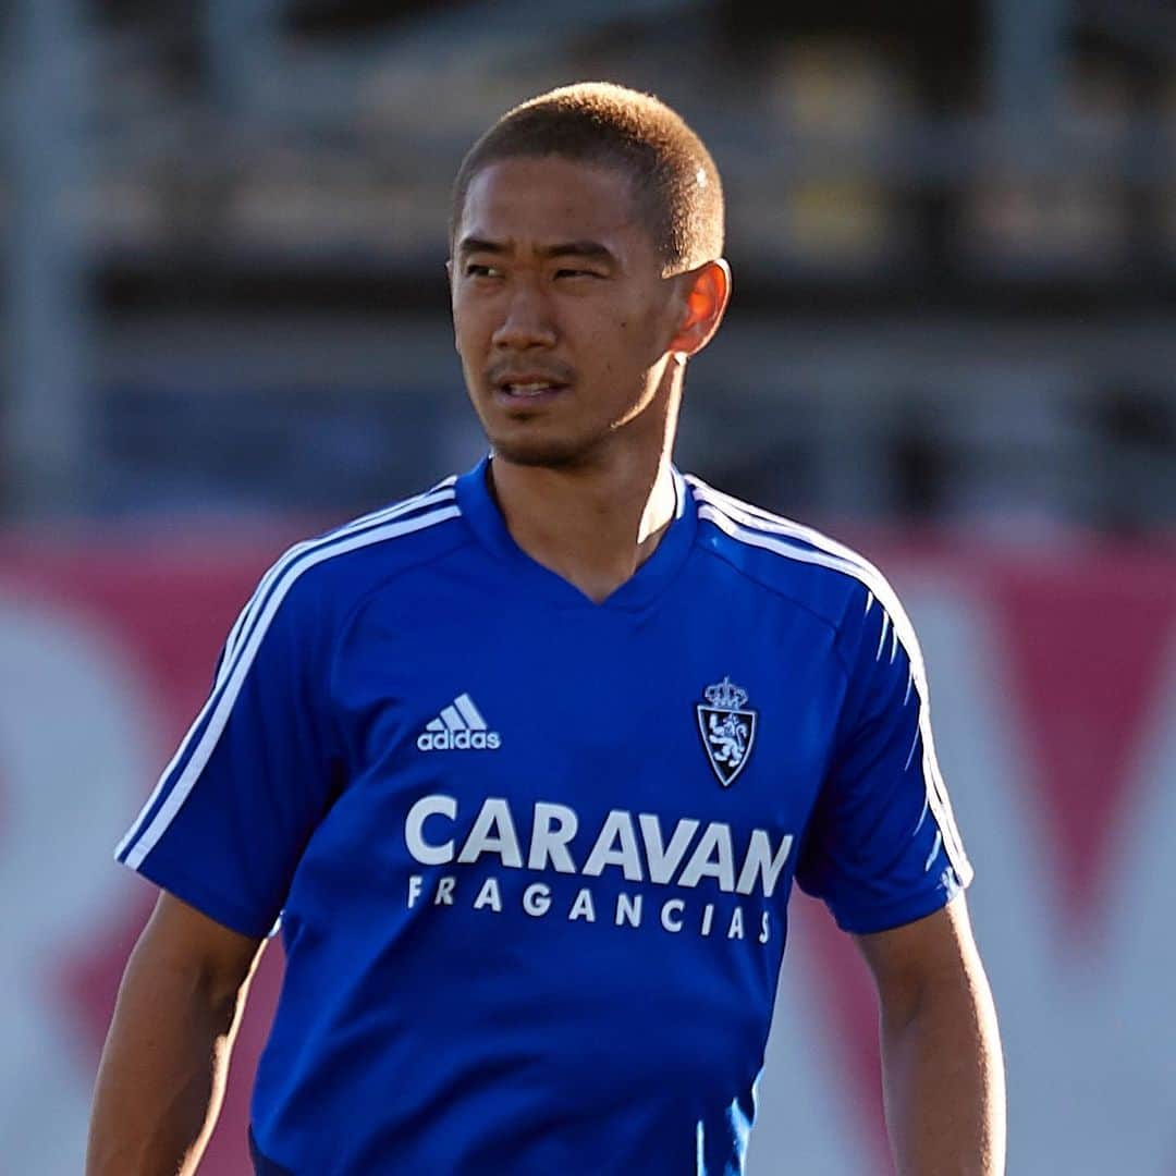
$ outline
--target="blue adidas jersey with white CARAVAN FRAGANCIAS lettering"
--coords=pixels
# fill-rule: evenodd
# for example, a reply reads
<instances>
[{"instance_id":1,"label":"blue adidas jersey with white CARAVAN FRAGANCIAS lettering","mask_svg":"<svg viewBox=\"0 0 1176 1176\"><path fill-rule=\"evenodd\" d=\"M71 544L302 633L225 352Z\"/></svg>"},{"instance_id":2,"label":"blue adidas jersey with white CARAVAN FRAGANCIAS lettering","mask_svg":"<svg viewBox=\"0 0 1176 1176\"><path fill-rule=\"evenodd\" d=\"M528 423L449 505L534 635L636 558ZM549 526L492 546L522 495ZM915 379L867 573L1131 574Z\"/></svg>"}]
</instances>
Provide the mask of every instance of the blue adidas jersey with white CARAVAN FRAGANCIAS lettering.
<instances>
[{"instance_id":1,"label":"blue adidas jersey with white CARAVAN FRAGANCIAS lettering","mask_svg":"<svg viewBox=\"0 0 1176 1176\"><path fill-rule=\"evenodd\" d=\"M118 856L287 969L262 1172L742 1171L795 881L847 930L969 881L910 624L675 473L595 604L483 462L288 552Z\"/></svg>"}]
</instances>

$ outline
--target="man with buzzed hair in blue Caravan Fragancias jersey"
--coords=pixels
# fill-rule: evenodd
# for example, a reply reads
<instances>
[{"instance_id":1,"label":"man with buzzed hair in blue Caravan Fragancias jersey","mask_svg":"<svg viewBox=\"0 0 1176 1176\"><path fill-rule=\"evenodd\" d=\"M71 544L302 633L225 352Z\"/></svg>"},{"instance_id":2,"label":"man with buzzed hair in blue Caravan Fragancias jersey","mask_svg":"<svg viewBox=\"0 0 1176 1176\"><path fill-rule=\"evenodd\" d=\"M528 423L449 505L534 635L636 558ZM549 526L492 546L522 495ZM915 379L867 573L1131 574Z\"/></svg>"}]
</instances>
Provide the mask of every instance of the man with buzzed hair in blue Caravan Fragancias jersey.
<instances>
[{"instance_id":1,"label":"man with buzzed hair in blue Caravan Fragancias jersey","mask_svg":"<svg viewBox=\"0 0 1176 1176\"><path fill-rule=\"evenodd\" d=\"M91 1176L195 1169L279 915L258 1172L739 1172L794 877L876 977L900 1171L1002 1170L902 608L670 465L722 222L699 139L619 87L466 158L453 315L493 457L293 548L229 633L119 847L165 894Z\"/></svg>"}]
</instances>

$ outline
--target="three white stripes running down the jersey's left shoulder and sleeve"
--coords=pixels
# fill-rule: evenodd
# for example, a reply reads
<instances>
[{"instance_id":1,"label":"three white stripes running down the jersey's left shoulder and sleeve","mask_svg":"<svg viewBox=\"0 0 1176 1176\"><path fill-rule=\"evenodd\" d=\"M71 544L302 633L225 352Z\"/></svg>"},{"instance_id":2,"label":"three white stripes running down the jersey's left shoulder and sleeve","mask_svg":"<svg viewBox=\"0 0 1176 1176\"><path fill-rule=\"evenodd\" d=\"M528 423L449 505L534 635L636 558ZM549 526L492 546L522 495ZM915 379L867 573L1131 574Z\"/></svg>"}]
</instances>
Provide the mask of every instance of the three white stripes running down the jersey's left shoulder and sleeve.
<instances>
[{"instance_id":1,"label":"three white stripes running down the jersey's left shoulder and sleeve","mask_svg":"<svg viewBox=\"0 0 1176 1176\"><path fill-rule=\"evenodd\" d=\"M448 496L452 497L452 494ZM416 505L420 506L420 502ZM334 537L321 540L310 549L303 549L301 556L280 561L282 570L280 570L278 576L270 581L275 584L275 587L269 594L265 606L261 608L258 616L258 623L253 627L253 630L245 640L243 644L241 644L235 656L232 659L227 656L225 657L221 664L221 674L218 676L216 684L209 695L208 701L205 703L200 714L196 716L195 722L193 722L191 729L188 730L188 734L185 736L183 742L172 757L172 762L163 769L163 773L159 779L159 783L156 783L154 791L143 806L139 821L135 822L135 826L131 829L127 836L123 837L122 842L115 850L115 856L122 858L123 853L127 853L128 848L133 847L129 848L129 853L127 853L125 860L127 866L132 869L138 869L143 858L151 853L159 838L163 835L163 831L167 829L168 824L171 824L173 817L180 810L183 802L187 800L189 793L195 786L196 780L200 777L200 773L203 771L205 766L212 757L221 733L228 723L233 704L236 701L236 696L241 691L241 686L249 671L249 667L256 657L258 649L261 647L266 630L269 628L269 624L281 606L282 600L289 593L300 575L326 560L345 555L348 552L354 552L361 547L369 547L373 543L383 543L388 540L399 539L403 535L410 535L415 532L425 530L428 527L435 527L437 523L446 522L449 519L456 519L460 514L461 510L456 503L450 503L448 506L429 510L423 515L417 515L401 521L386 522L359 532L355 532L352 528L343 528L341 532L336 532ZM258 601L260 599L261 597L255 594L254 600ZM253 604L253 601L250 601L250 604ZM250 606L246 606L246 608L249 607ZM168 788L169 777L187 754L189 744L193 743L193 740L196 737L196 733L200 730L200 727L206 719L208 726L205 728L203 734L199 736L199 740L196 740L195 746L192 748L192 757L188 760L187 766L179 777L172 782L171 791L168 791L167 797L160 807L160 810L155 814L154 820L152 820L146 829L143 829L142 824L147 814Z\"/></svg>"}]
</instances>

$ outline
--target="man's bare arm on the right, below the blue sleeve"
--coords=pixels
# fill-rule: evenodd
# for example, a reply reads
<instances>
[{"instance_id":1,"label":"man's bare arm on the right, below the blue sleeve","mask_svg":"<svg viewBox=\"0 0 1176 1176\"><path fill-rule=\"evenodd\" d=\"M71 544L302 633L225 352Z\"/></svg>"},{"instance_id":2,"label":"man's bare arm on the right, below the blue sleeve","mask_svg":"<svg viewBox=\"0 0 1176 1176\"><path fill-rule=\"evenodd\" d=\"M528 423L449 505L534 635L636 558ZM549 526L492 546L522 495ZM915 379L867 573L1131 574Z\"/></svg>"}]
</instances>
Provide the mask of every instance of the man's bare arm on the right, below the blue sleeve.
<instances>
[{"instance_id":1,"label":"man's bare arm on the right, below the blue sleeve","mask_svg":"<svg viewBox=\"0 0 1176 1176\"><path fill-rule=\"evenodd\" d=\"M857 936L878 990L887 1125L901 1176L1001 1176L1004 1063L962 895Z\"/></svg>"}]
</instances>

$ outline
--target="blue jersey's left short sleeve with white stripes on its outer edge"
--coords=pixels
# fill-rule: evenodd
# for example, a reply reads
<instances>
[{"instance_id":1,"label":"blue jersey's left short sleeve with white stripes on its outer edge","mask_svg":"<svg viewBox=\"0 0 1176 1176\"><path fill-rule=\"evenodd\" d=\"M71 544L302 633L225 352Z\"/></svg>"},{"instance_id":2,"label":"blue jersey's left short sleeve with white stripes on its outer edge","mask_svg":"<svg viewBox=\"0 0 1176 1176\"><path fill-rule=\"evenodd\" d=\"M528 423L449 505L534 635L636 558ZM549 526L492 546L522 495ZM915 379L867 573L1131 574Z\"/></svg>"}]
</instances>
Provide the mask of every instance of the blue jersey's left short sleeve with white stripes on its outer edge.
<instances>
[{"instance_id":1,"label":"blue jersey's left short sleeve with white stripes on its outer edge","mask_svg":"<svg viewBox=\"0 0 1176 1176\"><path fill-rule=\"evenodd\" d=\"M281 563L238 617L212 694L119 861L243 935L270 933L333 799L323 609Z\"/></svg>"}]
</instances>

